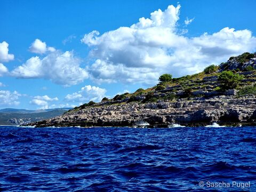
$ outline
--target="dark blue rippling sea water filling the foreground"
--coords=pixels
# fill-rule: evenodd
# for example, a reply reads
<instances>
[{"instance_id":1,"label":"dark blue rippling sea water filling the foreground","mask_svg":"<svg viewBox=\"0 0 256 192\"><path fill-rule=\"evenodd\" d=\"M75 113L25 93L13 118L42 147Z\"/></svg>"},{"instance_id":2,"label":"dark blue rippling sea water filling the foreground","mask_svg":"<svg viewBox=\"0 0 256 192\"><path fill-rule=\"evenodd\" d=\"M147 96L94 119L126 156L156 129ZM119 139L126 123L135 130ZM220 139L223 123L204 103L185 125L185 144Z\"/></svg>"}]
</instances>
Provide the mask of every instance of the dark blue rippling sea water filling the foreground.
<instances>
[{"instance_id":1,"label":"dark blue rippling sea water filling the foreground","mask_svg":"<svg viewBox=\"0 0 256 192\"><path fill-rule=\"evenodd\" d=\"M2 126L0 191L256 191L255 147L255 127Z\"/></svg>"}]
</instances>

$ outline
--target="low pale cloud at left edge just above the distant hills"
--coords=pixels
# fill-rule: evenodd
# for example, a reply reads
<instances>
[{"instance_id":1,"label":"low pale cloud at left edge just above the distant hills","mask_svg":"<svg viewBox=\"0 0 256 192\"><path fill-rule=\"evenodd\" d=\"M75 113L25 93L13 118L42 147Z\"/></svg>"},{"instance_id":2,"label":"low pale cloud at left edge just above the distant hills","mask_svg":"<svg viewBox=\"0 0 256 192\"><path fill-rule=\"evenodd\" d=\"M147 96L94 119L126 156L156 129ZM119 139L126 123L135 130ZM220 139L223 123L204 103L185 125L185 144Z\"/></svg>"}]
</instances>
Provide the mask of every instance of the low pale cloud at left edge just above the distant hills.
<instances>
[{"instance_id":1,"label":"low pale cloud at left edge just above the distant hills","mask_svg":"<svg viewBox=\"0 0 256 192\"><path fill-rule=\"evenodd\" d=\"M17 106L19 105L19 94L17 91L3 91L0 90L0 106Z\"/></svg>"}]
</instances>

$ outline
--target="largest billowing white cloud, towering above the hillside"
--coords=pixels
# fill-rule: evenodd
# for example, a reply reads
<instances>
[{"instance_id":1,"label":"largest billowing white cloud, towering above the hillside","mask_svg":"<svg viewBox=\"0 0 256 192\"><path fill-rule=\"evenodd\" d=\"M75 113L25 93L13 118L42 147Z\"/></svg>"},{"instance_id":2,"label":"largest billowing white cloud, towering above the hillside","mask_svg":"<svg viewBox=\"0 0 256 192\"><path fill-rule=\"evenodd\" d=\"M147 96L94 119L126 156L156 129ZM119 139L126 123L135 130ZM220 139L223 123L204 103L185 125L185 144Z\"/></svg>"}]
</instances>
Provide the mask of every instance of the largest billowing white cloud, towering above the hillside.
<instances>
[{"instance_id":1,"label":"largest billowing white cloud, towering above the hillside","mask_svg":"<svg viewBox=\"0 0 256 192\"><path fill-rule=\"evenodd\" d=\"M256 49L256 38L247 29L226 27L213 34L186 37L178 27L179 14L180 5L170 5L131 27L84 35L81 41L92 48L90 57L95 60L87 69L94 81L154 84L163 73L174 77L197 73ZM192 21L187 19L187 25Z\"/></svg>"}]
</instances>

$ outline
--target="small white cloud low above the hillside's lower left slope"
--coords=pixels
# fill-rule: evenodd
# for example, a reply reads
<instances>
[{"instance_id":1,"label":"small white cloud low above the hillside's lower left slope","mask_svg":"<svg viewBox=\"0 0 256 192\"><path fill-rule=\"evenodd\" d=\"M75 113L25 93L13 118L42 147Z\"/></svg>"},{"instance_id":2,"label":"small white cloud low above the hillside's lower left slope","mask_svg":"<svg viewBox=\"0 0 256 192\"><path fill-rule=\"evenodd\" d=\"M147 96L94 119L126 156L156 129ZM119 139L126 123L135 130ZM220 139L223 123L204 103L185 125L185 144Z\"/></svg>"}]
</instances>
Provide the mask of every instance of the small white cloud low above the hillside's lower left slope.
<instances>
[{"instance_id":1,"label":"small white cloud low above the hillside's lower left slope","mask_svg":"<svg viewBox=\"0 0 256 192\"><path fill-rule=\"evenodd\" d=\"M82 87L81 91L67 94L65 100L70 102L87 102L91 100L94 102L99 102L103 97L105 97L106 92L106 89L102 89L97 86L86 85Z\"/></svg>"}]
</instances>

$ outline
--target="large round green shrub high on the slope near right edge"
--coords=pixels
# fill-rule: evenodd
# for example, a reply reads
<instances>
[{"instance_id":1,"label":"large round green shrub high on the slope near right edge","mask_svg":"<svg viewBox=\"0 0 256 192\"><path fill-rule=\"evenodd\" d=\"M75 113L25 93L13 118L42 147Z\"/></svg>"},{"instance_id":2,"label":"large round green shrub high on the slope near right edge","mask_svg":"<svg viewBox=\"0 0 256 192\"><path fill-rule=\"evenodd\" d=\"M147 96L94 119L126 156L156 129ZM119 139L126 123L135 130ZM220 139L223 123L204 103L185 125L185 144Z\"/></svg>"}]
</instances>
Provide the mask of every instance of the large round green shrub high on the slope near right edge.
<instances>
[{"instance_id":1,"label":"large round green shrub high on the slope near right edge","mask_svg":"<svg viewBox=\"0 0 256 192\"><path fill-rule=\"evenodd\" d=\"M234 74L232 71L223 71L218 77L218 82L223 90L236 89L243 78L243 75Z\"/></svg>"}]
</instances>

